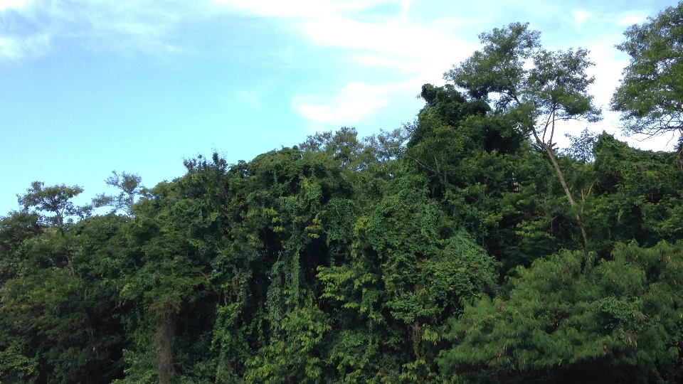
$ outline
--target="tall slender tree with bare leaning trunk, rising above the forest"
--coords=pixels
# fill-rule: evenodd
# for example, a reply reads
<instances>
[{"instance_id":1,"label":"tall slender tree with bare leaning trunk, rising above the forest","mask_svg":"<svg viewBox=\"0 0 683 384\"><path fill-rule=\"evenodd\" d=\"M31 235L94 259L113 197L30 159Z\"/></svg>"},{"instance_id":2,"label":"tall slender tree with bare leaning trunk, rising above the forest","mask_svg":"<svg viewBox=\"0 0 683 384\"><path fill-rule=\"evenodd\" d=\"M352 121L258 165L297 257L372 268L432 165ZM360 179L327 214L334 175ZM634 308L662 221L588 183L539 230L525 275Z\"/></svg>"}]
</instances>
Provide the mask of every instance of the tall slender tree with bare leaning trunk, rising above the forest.
<instances>
[{"instance_id":1,"label":"tall slender tree with bare leaning trunk, rising above the forest","mask_svg":"<svg viewBox=\"0 0 683 384\"><path fill-rule=\"evenodd\" d=\"M575 205L558 165L553 137L557 122L600 119L600 110L588 95L593 77L586 69L593 65L588 50L550 51L541 48L540 33L529 31L528 23L511 23L481 33L485 44L467 60L444 74L474 100L491 102L498 112L516 115L517 127L531 134L548 155L571 207ZM529 60L531 60L529 62ZM531 68L526 69L526 64ZM493 95L492 95L493 94ZM584 246L586 229L576 213Z\"/></svg>"}]
</instances>

